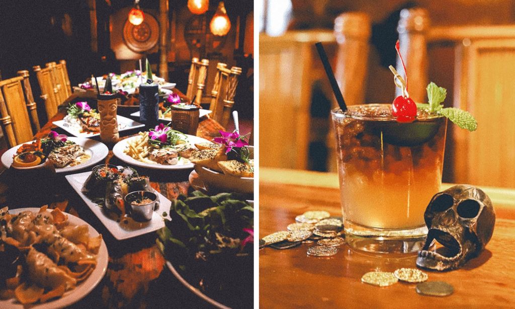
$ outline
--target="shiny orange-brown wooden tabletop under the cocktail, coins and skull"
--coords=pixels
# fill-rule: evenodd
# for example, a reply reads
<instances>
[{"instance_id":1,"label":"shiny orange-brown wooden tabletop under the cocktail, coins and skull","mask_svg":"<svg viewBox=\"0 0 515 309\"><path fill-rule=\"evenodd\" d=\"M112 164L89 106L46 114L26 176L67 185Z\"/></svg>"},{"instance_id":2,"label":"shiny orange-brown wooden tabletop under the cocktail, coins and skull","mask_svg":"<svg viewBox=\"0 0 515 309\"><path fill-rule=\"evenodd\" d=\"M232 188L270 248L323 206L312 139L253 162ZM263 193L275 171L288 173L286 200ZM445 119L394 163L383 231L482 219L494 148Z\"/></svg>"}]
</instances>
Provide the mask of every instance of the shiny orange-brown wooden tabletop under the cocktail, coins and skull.
<instances>
[{"instance_id":1,"label":"shiny orange-brown wooden tabletop under the cocktail, coins and skull","mask_svg":"<svg viewBox=\"0 0 515 309\"><path fill-rule=\"evenodd\" d=\"M337 174L263 167L259 173L260 238L285 231L309 210L341 216ZM421 296L413 283L377 287L361 282L368 271L416 267L416 253L372 254L343 245L335 255L319 258L306 254L315 244L301 244L259 250L260 308L515 308L515 190L480 188L496 211L486 249L461 269L425 271L428 281L453 285L452 295Z\"/></svg>"}]
</instances>

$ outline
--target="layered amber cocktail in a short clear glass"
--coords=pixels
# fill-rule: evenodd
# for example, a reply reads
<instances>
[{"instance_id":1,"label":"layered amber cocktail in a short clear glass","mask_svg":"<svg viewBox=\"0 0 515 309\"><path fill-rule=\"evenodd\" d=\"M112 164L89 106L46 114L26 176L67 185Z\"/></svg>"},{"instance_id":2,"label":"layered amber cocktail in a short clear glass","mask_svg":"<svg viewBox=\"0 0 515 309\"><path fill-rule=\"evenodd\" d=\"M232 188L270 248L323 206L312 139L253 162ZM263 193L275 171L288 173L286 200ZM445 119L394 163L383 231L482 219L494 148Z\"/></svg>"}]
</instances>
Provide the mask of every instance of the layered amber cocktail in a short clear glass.
<instances>
[{"instance_id":1,"label":"layered amber cocktail in a short clear glass","mask_svg":"<svg viewBox=\"0 0 515 309\"><path fill-rule=\"evenodd\" d=\"M419 249L424 211L440 191L447 118L418 112L399 123L391 105L332 111L346 239L373 252Z\"/></svg>"}]
</instances>

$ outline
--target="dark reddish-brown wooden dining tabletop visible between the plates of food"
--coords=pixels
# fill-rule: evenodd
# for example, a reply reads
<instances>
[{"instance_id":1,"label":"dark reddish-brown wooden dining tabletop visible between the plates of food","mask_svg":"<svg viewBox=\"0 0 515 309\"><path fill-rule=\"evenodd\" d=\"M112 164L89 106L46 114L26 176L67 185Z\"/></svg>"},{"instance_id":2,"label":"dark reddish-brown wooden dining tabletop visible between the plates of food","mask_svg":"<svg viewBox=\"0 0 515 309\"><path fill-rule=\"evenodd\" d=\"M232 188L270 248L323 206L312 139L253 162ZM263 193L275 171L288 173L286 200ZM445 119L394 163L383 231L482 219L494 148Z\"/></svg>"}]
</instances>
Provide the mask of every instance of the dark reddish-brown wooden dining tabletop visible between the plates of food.
<instances>
[{"instance_id":1,"label":"dark reddish-brown wooden dining tabletop visible between the plates of food","mask_svg":"<svg viewBox=\"0 0 515 309\"><path fill-rule=\"evenodd\" d=\"M72 95L60 107L57 115L43 126L35 137L44 138L49 131L70 135L53 125L63 119L68 102L80 99ZM91 100L90 100L91 101ZM92 106L92 108L96 108ZM135 119L138 121L138 119ZM138 133L140 129L122 131L121 137ZM216 121L203 116L199 121L197 136L212 140L224 130ZM99 140L99 136L92 139ZM127 163L113 156L109 147L106 163L127 166ZM191 169L153 170L136 168L140 175L149 176L151 185L168 199L193 191L188 181ZM73 174L90 171L91 167L75 171ZM165 259L156 245L155 232L129 238L115 239L88 206L81 200L62 174L51 180L17 179L15 171L5 170L0 175L0 208L8 205L11 209L24 207L60 208L87 221L102 234L109 251L109 266L106 276L93 291L71 308L212 308L213 306L193 294L191 290L173 276L165 265Z\"/></svg>"}]
</instances>

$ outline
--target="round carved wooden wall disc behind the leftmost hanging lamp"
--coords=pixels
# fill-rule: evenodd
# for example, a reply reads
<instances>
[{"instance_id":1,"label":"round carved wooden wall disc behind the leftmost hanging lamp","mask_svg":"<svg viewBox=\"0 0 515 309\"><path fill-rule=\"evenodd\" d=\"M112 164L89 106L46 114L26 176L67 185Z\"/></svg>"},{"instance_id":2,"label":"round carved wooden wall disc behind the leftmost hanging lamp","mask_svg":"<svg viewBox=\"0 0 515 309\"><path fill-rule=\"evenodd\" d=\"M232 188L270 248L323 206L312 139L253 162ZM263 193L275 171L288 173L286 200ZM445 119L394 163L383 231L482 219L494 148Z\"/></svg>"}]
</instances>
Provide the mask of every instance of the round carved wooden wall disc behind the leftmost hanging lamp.
<instances>
[{"instance_id":1,"label":"round carved wooden wall disc behind the leftmost hanging lamp","mask_svg":"<svg viewBox=\"0 0 515 309\"><path fill-rule=\"evenodd\" d=\"M150 14L143 23L134 26L128 20L124 26L124 42L133 52L143 53L156 46L159 40L159 24Z\"/></svg>"}]
</instances>

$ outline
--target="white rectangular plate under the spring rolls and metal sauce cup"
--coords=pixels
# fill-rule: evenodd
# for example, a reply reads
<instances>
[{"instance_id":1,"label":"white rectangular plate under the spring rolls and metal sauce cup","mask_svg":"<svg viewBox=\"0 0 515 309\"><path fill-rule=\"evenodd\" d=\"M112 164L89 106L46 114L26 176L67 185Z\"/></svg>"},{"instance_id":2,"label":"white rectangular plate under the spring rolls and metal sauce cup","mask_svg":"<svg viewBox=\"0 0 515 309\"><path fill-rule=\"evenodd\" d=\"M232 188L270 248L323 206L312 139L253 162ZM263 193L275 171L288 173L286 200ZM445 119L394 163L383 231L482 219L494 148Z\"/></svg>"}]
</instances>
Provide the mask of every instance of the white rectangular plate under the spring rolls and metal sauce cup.
<instances>
[{"instance_id":1,"label":"white rectangular plate under the spring rolls and metal sauce cup","mask_svg":"<svg viewBox=\"0 0 515 309\"><path fill-rule=\"evenodd\" d=\"M161 195L159 192L157 193L159 196L159 209L154 211L152 215L152 219L147 222L136 222L130 218L122 218L120 222L117 222L115 218L110 218L106 215L104 210L98 206L97 203L91 201L91 199L85 196L80 190L82 185L90 176L91 171L87 171L85 173L66 175L66 180L72 185L77 194L84 200L84 202L88 205L88 207L93 211L93 213L100 219L100 222L106 226L106 228L113 234L114 238L118 240L132 238L135 236L143 235L146 233L150 233L153 231L157 231L160 228L164 227L164 220L160 214L166 212L169 214L171 202ZM170 219L169 215L167 217ZM128 220L128 224L125 224L125 219ZM170 219L171 220L171 219Z\"/></svg>"}]
</instances>

